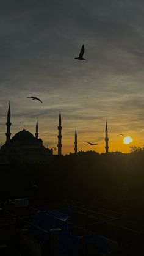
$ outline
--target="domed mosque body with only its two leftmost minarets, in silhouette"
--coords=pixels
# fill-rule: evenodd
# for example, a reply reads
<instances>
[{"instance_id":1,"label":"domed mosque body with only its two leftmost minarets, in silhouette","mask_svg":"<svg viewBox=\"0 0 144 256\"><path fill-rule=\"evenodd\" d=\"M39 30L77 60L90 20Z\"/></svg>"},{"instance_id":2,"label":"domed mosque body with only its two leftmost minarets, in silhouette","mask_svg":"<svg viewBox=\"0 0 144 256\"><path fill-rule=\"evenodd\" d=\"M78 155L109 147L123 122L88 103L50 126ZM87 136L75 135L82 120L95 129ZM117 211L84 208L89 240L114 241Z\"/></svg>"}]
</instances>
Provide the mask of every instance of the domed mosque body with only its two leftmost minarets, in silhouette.
<instances>
[{"instance_id":1,"label":"domed mosque body with only its two leftmost minarets, in silhouette","mask_svg":"<svg viewBox=\"0 0 144 256\"><path fill-rule=\"evenodd\" d=\"M18 131L12 139L10 138L10 103L7 113L7 132L5 144L2 145L0 154L7 161L20 161L24 163L48 163L52 159L53 150L43 146L42 139L38 138L38 120L36 122L35 136L23 130Z\"/></svg>"}]
</instances>

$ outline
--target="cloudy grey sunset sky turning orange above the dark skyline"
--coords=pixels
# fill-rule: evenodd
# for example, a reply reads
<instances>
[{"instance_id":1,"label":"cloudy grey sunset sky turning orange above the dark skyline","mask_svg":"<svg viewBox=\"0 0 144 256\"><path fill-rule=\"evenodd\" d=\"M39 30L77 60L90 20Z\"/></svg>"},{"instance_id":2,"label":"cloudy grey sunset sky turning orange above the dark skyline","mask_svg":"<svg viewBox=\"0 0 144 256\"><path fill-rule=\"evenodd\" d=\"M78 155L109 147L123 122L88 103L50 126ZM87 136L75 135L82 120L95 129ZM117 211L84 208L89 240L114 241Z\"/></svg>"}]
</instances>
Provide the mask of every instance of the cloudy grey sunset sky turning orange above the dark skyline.
<instances>
[{"instance_id":1,"label":"cloudy grey sunset sky turning orange above the dark skyline","mask_svg":"<svg viewBox=\"0 0 144 256\"><path fill-rule=\"evenodd\" d=\"M10 101L12 136L35 133L62 153L129 152L144 144L144 2L141 0L1 0L0 145ZM74 59L85 45L86 60ZM43 103L28 96L39 97ZM134 141L124 145L128 134ZM97 143L90 147L85 141Z\"/></svg>"}]
</instances>

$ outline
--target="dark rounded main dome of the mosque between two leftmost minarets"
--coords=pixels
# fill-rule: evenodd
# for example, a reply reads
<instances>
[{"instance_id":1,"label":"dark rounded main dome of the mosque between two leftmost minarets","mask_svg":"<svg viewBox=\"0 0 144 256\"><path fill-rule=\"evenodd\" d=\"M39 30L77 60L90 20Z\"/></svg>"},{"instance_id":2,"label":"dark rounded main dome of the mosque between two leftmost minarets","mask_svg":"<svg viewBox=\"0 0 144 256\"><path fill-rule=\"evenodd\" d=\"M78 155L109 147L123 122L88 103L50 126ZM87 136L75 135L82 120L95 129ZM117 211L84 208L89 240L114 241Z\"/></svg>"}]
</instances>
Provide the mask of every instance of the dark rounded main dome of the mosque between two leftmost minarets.
<instances>
[{"instance_id":1,"label":"dark rounded main dome of the mosque between two leftmost minarets","mask_svg":"<svg viewBox=\"0 0 144 256\"><path fill-rule=\"evenodd\" d=\"M23 131L19 131L13 136L13 141L26 141L26 142L34 142L35 137L29 131L23 129Z\"/></svg>"}]
</instances>

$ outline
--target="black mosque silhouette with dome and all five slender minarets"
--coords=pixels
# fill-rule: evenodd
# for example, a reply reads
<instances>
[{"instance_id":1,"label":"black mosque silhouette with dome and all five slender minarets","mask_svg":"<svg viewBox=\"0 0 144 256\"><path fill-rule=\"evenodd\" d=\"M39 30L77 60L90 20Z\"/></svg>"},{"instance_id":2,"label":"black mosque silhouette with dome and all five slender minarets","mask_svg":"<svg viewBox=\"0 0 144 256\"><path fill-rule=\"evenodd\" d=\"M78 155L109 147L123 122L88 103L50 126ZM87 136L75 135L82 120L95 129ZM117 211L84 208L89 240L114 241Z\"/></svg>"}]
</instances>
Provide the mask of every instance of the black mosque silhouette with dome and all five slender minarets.
<instances>
[{"instance_id":1,"label":"black mosque silhouette with dome and all five slender minarets","mask_svg":"<svg viewBox=\"0 0 144 256\"><path fill-rule=\"evenodd\" d=\"M54 158L53 149L46 148L43 146L42 139L38 138L38 120L35 126L35 136L26 131L25 126L22 131L18 131L12 138L10 132L10 103L7 112L7 131L5 144L2 145L0 150L1 159L6 159L8 162L16 161L21 163L49 163ZM58 144L57 144L57 155L62 155L62 117L61 112L59 112L59 126L58 128ZM108 145L108 130L106 122L105 130L105 150L109 153ZM77 131L74 134L74 153L77 155Z\"/></svg>"}]
</instances>

